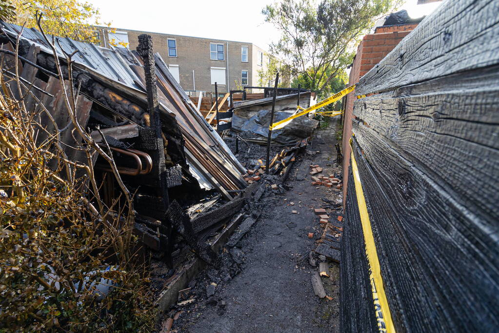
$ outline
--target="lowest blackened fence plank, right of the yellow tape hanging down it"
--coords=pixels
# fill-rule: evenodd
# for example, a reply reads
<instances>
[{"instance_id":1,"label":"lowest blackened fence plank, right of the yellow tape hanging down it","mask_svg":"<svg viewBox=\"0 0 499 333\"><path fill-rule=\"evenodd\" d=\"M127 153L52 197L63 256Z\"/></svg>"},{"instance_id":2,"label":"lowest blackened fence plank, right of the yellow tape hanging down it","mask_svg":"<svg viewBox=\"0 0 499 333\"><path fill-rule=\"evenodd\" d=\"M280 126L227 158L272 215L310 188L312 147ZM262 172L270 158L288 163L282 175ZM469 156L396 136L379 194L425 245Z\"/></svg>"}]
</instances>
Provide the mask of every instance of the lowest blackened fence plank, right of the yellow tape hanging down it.
<instances>
[{"instance_id":1,"label":"lowest blackened fence plank, right of the yellow tape hanging down it","mask_svg":"<svg viewBox=\"0 0 499 333\"><path fill-rule=\"evenodd\" d=\"M365 133L355 136L354 154L390 309L400 313L393 318L397 330L499 327L497 223L457 202L463 198L386 140Z\"/></svg>"}]
</instances>

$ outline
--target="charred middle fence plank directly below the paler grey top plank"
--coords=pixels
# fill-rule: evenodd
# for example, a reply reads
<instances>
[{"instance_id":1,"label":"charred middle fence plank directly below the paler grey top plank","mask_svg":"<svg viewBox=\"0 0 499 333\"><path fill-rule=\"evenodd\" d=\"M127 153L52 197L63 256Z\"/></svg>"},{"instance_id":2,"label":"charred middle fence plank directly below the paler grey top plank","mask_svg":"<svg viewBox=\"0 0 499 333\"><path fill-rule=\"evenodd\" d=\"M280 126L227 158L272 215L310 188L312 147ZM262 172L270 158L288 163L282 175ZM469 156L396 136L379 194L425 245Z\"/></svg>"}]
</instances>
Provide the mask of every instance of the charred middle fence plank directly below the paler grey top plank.
<instances>
[{"instance_id":1,"label":"charred middle fence plank directly below the paler grey top plank","mask_svg":"<svg viewBox=\"0 0 499 333\"><path fill-rule=\"evenodd\" d=\"M499 220L498 103L494 66L358 100L353 132L369 156L401 154L480 217L488 234ZM386 143L386 150L373 140Z\"/></svg>"}]
</instances>

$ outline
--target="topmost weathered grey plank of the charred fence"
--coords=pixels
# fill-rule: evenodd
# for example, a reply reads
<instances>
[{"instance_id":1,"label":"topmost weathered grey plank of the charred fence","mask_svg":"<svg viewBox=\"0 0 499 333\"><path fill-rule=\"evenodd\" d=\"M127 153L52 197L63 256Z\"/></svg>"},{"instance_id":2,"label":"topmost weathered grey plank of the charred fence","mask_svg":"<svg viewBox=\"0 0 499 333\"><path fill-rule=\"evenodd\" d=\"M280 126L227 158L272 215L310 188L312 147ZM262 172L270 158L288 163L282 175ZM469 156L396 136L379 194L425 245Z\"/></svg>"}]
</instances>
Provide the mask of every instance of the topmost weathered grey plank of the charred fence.
<instances>
[{"instance_id":1,"label":"topmost weathered grey plank of the charred fence","mask_svg":"<svg viewBox=\"0 0 499 333\"><path fill-rule=\"evenodd\" d=\"M360 78L355 94L497 64L498 25L495 0L444 1Z\"/></svg>"}]
</instances>

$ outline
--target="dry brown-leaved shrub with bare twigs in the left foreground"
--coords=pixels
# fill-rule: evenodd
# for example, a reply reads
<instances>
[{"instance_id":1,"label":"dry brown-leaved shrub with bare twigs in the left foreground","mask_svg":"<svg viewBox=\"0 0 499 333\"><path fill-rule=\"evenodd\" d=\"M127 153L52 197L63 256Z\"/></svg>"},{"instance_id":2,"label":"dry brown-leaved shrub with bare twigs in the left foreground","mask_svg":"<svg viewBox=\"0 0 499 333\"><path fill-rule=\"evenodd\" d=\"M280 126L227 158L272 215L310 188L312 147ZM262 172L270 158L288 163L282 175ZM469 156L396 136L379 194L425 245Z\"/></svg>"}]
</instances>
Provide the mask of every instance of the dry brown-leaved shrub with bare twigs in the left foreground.
<instances>
[{"instance_id":1,"label":"dry brown-leaved shrub with bare twigs in the left foreground","mask_svg":"<svg viewBox=\"0 0 499 333\"><path fill-rule=\"evenodd\" d=\"M37 143L47 127L9 85L29 92L0 77L0 331L152 330L129 201L112 207L100 201L88 185L88 167L64 158L58 129ZM77 148L95 153L88 143ZM81 168L87 176L76 178Z\"/></svg>"}]
</instances>

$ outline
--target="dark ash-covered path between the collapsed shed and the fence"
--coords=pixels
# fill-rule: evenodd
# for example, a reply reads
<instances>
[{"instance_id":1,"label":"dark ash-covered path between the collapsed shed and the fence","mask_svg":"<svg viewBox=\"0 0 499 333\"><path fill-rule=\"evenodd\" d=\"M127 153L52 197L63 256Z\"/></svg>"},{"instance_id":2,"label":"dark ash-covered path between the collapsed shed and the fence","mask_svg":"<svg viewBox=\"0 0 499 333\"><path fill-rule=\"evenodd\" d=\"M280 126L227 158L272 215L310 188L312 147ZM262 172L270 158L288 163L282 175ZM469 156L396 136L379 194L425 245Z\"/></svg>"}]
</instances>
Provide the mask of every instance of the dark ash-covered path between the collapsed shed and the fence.
<instances>
[{"instance_id":1,"label":"dark ash-covered path between the collapsed shed and the fence","mask_svg":"<svg viewBox=\"0 0 499 333\"><path fill-rule=\"evenodd\" d=\"M342 190L312 185L308 174L314 164L341 178L335 163L336 125L316 131L284 184L281 176L262 177L261 199L246 207L246 214L258 219L236 246L224 248L220 266L201 272L165 313L164 324L175 318L171 332L339 332L339 264L329 262L329 277L321 277L331 300L314 294L311 274L317 268L309 264L311 252L317 259L313 250L323 231L313 209L326 209L331 220L342 215ZM234 140L227 143L235 151ZM247 165L264 160L266 148L249 145L250 153L240 142L238 159ZM274 148L271 156L280 150ZM297 180L297 175L305 177ZM272 190L271 184L279 186Z\"/></svg>"}]
</instances>

